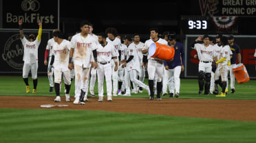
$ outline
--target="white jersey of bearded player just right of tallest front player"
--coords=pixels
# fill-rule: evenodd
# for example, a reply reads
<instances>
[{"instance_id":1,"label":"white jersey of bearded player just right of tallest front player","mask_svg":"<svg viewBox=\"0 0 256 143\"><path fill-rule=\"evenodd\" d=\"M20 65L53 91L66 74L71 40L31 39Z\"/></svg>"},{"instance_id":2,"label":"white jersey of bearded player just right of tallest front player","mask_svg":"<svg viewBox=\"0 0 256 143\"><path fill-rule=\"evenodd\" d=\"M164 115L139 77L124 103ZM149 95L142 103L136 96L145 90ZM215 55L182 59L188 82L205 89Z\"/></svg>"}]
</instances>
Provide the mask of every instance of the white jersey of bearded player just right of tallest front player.
<instances>
[{"instance_id":1,"label":"white jersey of bearded player just right of tallest front player","mask_svg":"<svg viewBox=\"0 0 256 143\"><path fill-rule=\"evenodd\" d=\"M113 44L107 42L105 47L101 44L98 44L97 49L97 60L98 62L110 62L112 57L116 57L115 47Z\"/></svg>"}]
</instances>

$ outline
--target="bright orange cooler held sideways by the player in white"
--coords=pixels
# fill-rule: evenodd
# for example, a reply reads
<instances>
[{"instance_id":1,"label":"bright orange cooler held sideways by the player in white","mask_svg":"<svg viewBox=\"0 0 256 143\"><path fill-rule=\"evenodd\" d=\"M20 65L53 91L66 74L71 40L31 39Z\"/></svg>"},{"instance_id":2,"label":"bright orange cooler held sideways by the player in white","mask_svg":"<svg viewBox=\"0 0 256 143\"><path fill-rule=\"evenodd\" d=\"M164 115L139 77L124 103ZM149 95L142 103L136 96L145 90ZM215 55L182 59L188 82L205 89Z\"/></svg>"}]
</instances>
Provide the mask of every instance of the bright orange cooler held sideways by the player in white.
<instances>
[{"instance_id":1,"label":"bright orange cooler held sideways by the player in white","mask_svg":"<svg viewBox=\"0 0 256 143\"><path fill-rule=\"evenodd\" d=\"M149 55L151 57L156 57L160 60L171 60L174 57L174 53L174 48L169 47L166 44L159 44L158 42L153 42L149 46Z\"/></svg>"}]
</instances>

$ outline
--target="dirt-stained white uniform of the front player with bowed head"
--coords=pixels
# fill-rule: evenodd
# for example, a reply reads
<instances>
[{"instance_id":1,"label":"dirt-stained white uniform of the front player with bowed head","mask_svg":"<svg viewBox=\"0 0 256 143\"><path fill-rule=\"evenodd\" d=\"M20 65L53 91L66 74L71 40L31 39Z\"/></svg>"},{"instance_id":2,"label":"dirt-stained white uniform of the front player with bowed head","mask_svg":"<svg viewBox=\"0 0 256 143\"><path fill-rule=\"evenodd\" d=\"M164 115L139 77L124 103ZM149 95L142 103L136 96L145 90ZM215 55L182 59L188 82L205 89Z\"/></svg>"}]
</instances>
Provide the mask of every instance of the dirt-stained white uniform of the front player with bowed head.
<instances>
[{"instance_id":1,"label":"dirt-stained white uniform of the front player with bowed head","mask_svg":"<svg viewBox=\"0 0 256 143\"><path fill-rule=\"evenodd\" d=\"M69 55L70 55L70 41L63 40L61 44L57 42L53 45L54 53L54 83L61 83L61 75L66 85L71 84L70 69L68 68Z\"/></svg>"}]
</instances>

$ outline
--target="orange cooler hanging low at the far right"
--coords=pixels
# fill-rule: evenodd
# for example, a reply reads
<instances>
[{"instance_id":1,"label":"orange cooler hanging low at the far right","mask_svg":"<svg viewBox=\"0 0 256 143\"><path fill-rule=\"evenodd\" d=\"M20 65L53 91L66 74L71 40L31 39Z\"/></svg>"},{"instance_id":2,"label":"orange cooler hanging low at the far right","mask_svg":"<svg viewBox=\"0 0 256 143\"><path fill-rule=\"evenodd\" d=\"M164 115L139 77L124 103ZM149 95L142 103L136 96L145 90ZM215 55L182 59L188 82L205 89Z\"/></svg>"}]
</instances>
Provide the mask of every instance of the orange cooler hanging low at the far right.
<instances>
[{"instance_id":1,"label":"orange cooler hanging low at the far right","mask_svg":"<svg viewBox=\"0 0 256 143\"><path fill-rule=\"evenodd\" d=\"M234 66L233 72L235 74L235 79L237 79L237 83L245 83L250 80L244 64L237 64L236 66Z\"/></svg>"}]
</instances>

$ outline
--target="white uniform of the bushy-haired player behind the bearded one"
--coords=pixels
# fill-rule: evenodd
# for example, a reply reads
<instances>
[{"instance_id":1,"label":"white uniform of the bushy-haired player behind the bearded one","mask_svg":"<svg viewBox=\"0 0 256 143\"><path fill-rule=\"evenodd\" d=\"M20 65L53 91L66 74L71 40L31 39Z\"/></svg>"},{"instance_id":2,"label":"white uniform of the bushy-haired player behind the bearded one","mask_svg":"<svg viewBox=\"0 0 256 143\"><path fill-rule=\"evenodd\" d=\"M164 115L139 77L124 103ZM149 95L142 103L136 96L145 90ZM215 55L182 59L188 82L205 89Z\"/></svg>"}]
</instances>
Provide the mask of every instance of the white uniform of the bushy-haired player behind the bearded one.
<instances>
[{"instance_id":1,"label":"white uniform of the bushy-haired player behind the bearded one","mask_svg":"<svg viewBox=\"0 0 256 143\"><path fill-rule=\"evenodd\" d=\"M121 40L119 38L115 38L114 40L110 40L109 38L106 38L106 40L107 42L114 45L116 55L119 56L118 50L120 50ZM119 59L118 59L118 63L119 63ZM118 92L118 70L116 71L114 70L115 68L114 60L111 60L111 66L112 66L113 94L116 95L116 93Z\"/></svg>"}]
</instances>

